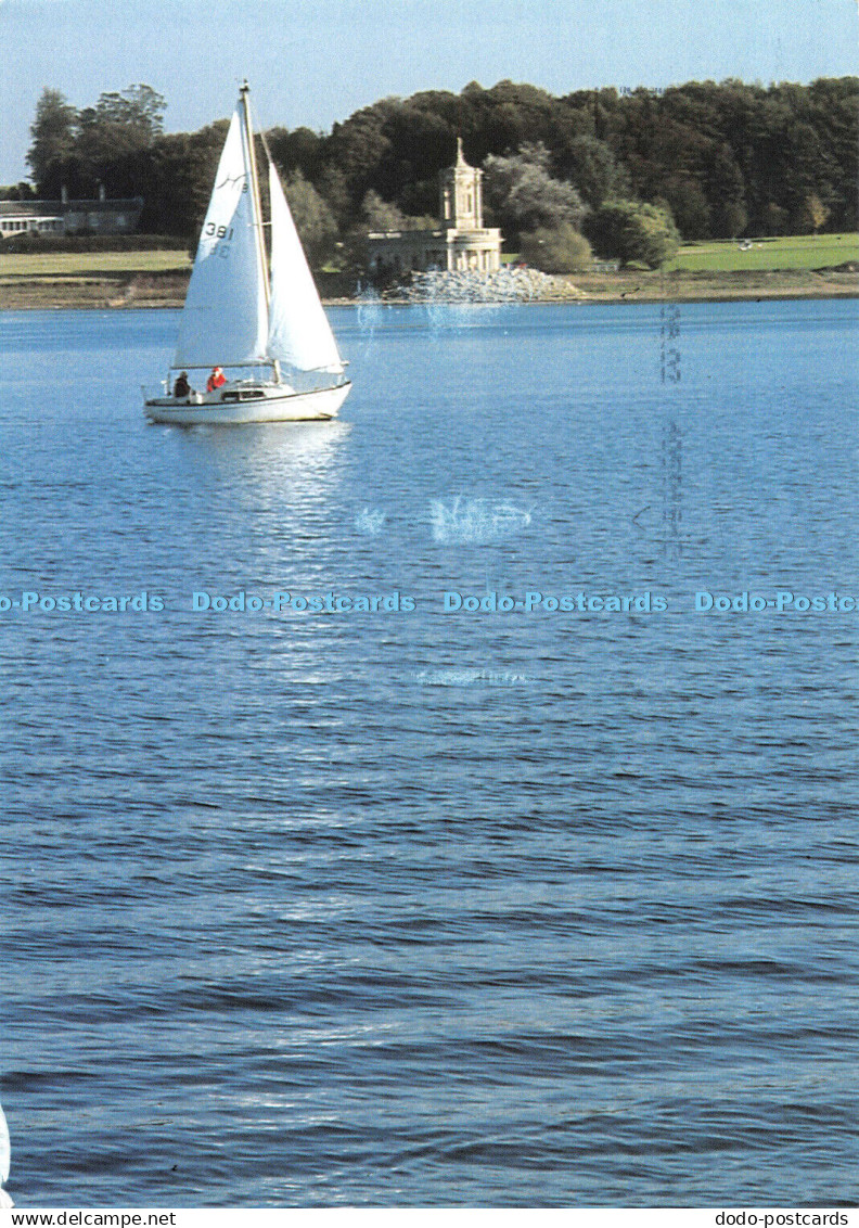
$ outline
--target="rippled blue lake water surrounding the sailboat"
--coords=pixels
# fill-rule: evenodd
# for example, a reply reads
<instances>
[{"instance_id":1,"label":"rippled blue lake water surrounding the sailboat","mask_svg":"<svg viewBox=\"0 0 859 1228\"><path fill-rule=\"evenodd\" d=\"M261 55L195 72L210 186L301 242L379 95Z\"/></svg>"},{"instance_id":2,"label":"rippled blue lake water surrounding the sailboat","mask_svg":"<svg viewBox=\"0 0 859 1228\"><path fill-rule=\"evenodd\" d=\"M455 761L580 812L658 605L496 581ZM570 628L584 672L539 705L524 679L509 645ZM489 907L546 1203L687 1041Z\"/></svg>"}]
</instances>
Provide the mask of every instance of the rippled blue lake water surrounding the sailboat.
<instances>
[{"instance_id":1,"label":"rippled blue lake water surrounding the sailboat","mask_svg":"<svg viewBox=\"0 0 859 1228\"><path fill-rule=\"evenodd\" d=\"M857 1205L859 302L331 314L0 314L10 1192Z\"/></svg>"}]
</instances>

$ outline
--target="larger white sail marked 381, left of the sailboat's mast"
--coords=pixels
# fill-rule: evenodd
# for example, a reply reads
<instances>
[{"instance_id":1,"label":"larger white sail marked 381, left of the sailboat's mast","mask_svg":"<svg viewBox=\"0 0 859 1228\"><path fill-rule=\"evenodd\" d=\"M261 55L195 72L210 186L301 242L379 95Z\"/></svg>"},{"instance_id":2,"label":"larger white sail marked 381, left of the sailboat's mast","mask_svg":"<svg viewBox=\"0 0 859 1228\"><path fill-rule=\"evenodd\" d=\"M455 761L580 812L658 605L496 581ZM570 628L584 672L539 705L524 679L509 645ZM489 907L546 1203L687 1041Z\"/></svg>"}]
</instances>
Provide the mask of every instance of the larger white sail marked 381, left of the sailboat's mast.
<instances>
[{"instance_id":1,"label":"larger white sail marked 381, left of the sailboat's mast","mask_svg":"<svg viewBox=\"0 0 859 1228\"><path fill-rule=\"evenodd\" d=\"M236 112L202 223L174 367L241 366L266 357L265 268L245 144Z\"/></svg>"}]
</instances>

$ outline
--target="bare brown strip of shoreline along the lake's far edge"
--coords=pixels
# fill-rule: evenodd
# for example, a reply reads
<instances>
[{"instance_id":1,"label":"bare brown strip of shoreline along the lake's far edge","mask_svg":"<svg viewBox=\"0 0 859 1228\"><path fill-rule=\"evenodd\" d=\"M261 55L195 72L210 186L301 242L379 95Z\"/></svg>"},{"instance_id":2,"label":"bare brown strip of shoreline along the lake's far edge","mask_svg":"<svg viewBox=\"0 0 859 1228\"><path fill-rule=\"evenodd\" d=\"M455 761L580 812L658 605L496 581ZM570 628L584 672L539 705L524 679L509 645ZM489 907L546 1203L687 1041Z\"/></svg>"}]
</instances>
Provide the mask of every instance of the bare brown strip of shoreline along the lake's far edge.
<instances>
[{"instance_id":1,"label":"bare brown strip of shoreline along the lake's far edge","mask_svg":"<svg viewBox=\"0 0 859 1228\"><path fill-rule=\"evenodd\" d=\"M855 298L859 273L844 269L776 269L760 271L572 274L576 291L534 300L587 306L606 302L730 302L765 298ZM85 276L0 275L0 311L178 309L188 273L90 274ZM326 306L355 306L360 298L326 293ZM387 300L380 302L387 305ZM393 303L391 303L393 306ZM528 305L523 305L528 306Z\"/></svg>"}]
</instances>

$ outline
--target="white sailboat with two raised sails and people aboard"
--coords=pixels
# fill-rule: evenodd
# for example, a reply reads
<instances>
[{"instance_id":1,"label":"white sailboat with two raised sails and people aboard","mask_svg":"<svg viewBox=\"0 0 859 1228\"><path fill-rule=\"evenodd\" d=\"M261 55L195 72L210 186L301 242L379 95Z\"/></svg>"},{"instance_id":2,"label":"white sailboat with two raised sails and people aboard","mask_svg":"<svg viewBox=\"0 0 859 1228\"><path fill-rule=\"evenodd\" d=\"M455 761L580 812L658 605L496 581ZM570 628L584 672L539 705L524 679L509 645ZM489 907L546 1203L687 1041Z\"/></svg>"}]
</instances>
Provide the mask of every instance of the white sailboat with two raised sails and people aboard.
<instances>
[{"instance_id":1,"label":"white sailboat with two raised sails and people aboard","mask_svg":"<svg viewBox=\"0 0 859 1228\"><path fill-rule=\"evenodd\" d=\"M161 392L145 393L144 411L153 422L331 419L351 388L271 158L266 257L248 93L245 82L202 223L173 363ZM193 384L210 371L209 391L196 391Z\"/></svg>"}]
</instances>

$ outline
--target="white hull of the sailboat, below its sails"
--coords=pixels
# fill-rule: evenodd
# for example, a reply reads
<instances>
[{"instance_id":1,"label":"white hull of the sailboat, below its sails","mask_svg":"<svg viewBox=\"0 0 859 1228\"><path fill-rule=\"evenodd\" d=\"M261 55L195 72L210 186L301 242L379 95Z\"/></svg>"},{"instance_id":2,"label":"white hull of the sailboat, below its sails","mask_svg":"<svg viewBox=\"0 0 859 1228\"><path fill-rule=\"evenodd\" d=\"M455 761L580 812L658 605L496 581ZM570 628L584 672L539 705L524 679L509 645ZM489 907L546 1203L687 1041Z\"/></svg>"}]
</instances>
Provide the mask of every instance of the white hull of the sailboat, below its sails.
<instances>
[{"instance_id":1,"label":"white hull of the sailboat, below its sails","mask_svg":"<svg viewBox=\"0 0 859 1228\"><path fill-rule=\"evenodd\" d=\"M282 384L258 384L241 392L226 386L198 403L175 397L152 397L144 405L151 422L173 426L243 426L247 422L320 422L336 418L351 383L312 392Z\"/></svg>"}]
</instances>

